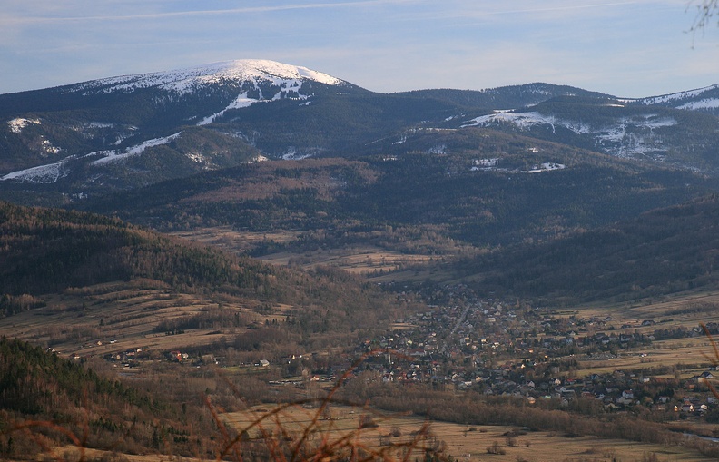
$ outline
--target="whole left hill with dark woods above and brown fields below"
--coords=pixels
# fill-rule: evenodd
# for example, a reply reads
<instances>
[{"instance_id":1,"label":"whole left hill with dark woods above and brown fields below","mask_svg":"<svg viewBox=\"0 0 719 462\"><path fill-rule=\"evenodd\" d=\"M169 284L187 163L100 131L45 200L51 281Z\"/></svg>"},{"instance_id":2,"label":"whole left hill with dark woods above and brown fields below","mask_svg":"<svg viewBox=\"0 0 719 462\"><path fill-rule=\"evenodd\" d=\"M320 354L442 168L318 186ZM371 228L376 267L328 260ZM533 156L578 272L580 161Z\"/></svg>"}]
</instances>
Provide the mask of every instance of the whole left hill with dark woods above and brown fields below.
<instances>
[{"instance_id":1,"label":"whole left hill with dark woods above and brown fields below","mask_svg":"<svg viewBox=\"0 0 719 462\"><path fill-rule=\"evenodd\" d=\"M351 343L412 309L337 270L277 268L77 211L0 202L0 236L0 329L65 354L121 334L133 346L187 331L204 337L163 345L250 342L278 347L279 358Z\"/></svg>"}]
</instances>

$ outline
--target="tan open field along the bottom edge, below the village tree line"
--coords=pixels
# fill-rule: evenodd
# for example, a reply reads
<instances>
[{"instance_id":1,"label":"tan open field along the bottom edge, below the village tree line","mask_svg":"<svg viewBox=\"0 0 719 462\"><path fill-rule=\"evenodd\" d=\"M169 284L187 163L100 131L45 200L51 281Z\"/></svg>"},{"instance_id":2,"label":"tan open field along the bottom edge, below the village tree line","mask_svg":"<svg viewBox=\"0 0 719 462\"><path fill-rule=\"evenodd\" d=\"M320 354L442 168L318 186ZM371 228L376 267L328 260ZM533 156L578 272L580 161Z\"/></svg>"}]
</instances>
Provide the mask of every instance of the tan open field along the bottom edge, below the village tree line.
<instances>
[{"instance_id":1,"label":"tan open field along the bottom edge, below the village tree line","mask_svg":"<svg viewBox=\"0 0 719 462\"><path fill-rule=\"evenodd\" d=\"M272 430L277 434L281 428L284 432L296 436L311 424L318 409L290 407L277 415L279 420L271 415L271 411L271 406L258 406L242 412L225 414L222 418L238 429L246 428L252 421L264 418L261 423L265 431ZM378 427L359 429L362 416L371 416ZM426 424L425 420L415 416L379 413L367 408L350 408L341 405L330 405L330 410L323 417L317 424L316 440L319 441L324 437L329 441L335 441L350 436L350 441L369 451L381 449L382 443L385 445L407 443L414 437L413 433L421 431ZM328 417L331 419L327 419ZM253 428L248 433L251 438L259 436L259 434L255 435L258 433L257 428ZM392 437L391 433L400 436ZM655 454L660 461L713 460L682 447L662 447L599 437L567 437L550 432L527 432L521 428L504 426L468 427L446 422L431 422L428 424L428 435L444 441L447 444L447 453L460 461L641 461L643 457L651 454ZM488 447L493 447L495 443L499 449L497 452L504 451L505 454L488 453Z\"/></svg>"}]
</instances>

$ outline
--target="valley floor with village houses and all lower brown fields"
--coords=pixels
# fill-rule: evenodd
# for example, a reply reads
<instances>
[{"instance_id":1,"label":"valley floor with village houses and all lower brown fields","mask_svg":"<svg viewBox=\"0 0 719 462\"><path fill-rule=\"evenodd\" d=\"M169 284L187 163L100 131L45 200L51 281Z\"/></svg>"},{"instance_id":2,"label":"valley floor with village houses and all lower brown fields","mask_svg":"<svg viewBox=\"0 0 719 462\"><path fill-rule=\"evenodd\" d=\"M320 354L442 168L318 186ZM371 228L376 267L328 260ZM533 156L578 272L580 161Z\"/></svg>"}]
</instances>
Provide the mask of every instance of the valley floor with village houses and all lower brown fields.
<instances>
[{"instance_id":1,"label":"valley floor with village houses and all lower brown fields","mask_svg":"<svg viewBox=\"0 0 719 462\"><path fill-rule=\"evenodd\" d=\"M620 418L625 414L635 418L643 416L642 419L652 416L651 421L661 416L668 428L713 435L713 425L697 424L704 421L700 416L714 415L719 404L696 378L714 370L719 360L711 356L712 343L696 326L707 323L714 329L712 326L717 325L719 315L712 307L719 302L719 295L685 294L655 303L586 306L572 310L473 300L462 288L454 288L450 296L462 300L468 309L460 313L458 307L440 304L426 312L406 313L404 319L396 319L391 334L369 337L345 349L333 349L329 356L328 352L321 354L306 349L284 357L278 357L279 352L273 353L271 343L264 342L269 340L266 338L268 323L285 322L280 307L261 317L254 310L225 300L222 310L234 312L234 316L241 313L241 325L232 325L237 324L237 319L215 319L211 321L212 327L201 325L168 332L158 326L170 325L172 319L198 318L202 313L209 316L213 310L216 314L218 308L209 306L206 300L173 295L167 290L118 284L70 290L63 297L46 299L44 308L3 319L0 329L11 337L50 344L62 356L89 361L94 368L103 369L97 362L103 361L105 367L134 381L152 383L169 373L203 377L203 383L209 383L207 378L219 374L243 390L232 388L235 389L232 393L256 398L269 394L282 397L282 402L300 402L306 398L321 400L333 392L334 384L340 380L340 383L346 382L347 387L339 389L339 403L356 400L350 398L355 393L365 393L374 404L369 409L352 411L352 416L349 411L343 411L340 404L330 402L330 410L322 412L338 416L339 420L333 418L332 427L318 427L313 431L331 441L337 432L356 430L358 416L369 411L382 422L379 428L362 431L365 436L361 437L360 446L370 452L384 448L379 441L386 438L382 435L390 427L399 427L399 434L408 435L424 425L423 418L392 417L392 413L388 413L398 406L394 398L390 398L394 396L391 390L404 388L419 397L424 396L420 390L428 385L435 390L432 393L438 393L436 390L448 393L445 403L451 402L447 399L475 396L473 399L478 402L489 400L490 406L495 400L494 406L502 408L513 399L520 399L527 403L524 406L537 407L537 411L547 409L551 403L549 408L566 407L566 411L578 412L579 416L599 412L606 418L613 415ZM148 314L148 310L152 314ZM122 313L122 319L114 314L118 312ZM233 342L238 345L235 339L253 329L264 332L256 337L264 344L260 349L250 353L227 348ZM505 331L511 335L507 337ZM270 359L267 365L261 364L264 359ZM349 378L340 378L351 363L356 366L349 369ZM292 376L300 371L299 375ZM243 385L247 380L255 384L269 383L269 386L264 390L255 389L254 395L249 395ZM357 380L366 381L369 389L360 391ZM625 398L627 390L634 397ZM211 396L215 393L211 392ZM222 396L213 398L213 402L215 399ZM544 400L547 404L542 403ZM317 409L320 403L312 408ZM684 408L689 406L695 406L696 410ZM267 409L266 405L256 408L265 409L259 412ZM309 422L301 415L319 412L312 408L299 405L290 408L280 414L280 420L268 419L267 426L271 429L281 425L283 431L297 433ZM379 410L382 408L386 410ZM610 408L614 410L606 414ZM547 412L551 411L547 409ZM237 426L247 421L237 418L260 415L243 411L222 418ZM480 414L474 416L467 420L469 425L462 425L451 414L438 413L432 418L429 430L447 445L448 454L470 460L486 457L483 455L495 441L497 451L501 451L497 454L511 455L512 460L516 457L556 460L552 458L559 454L556 451L566 454L569 460L579 454L591 454L598 460L608 460L606 457L618 454L704 460L692 449L681 448L684 444L680 447L651 444L649 441L654 441L651 438L642 439L644 443L605 440L602 432L590 431L586 436L567 438L561 435L559 428L551 427L555 430L535 429L529 433L525 430L519 435L526 436L508 438L505 434L517 432L517 427L493 426L484 423ZM345 418L349 420L342 423ZM446 420L455 423L444 423ZM531 419L520 418L516 425L532 427L531 422ZM389 438L392 444L400 441L401 438ZM591 447L592 452L584 452L586 447ZM614 452L611 447L615 447ZM500 456L497 459L504 460Z\"/></svg>"}]
</instances>

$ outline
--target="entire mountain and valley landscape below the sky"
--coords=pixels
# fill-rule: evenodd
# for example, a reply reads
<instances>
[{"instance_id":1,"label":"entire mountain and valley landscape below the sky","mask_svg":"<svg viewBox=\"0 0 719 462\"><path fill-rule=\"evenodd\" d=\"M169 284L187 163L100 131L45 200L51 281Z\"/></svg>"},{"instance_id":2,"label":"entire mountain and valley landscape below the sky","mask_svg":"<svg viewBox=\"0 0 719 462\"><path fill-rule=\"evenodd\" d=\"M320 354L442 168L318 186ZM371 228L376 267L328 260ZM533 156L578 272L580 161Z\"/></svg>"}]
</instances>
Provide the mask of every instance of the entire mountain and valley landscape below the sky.
<instances>
[{"instance_id":1,"label":"entire mountain and valley landscape below the sky","mask_svg":"<svg viewBox=\"0 0 719 462\"><path fill-rule=\"evenodd\" d=\"M0 458L717 457L716 92L0 95Z\"/></svg>"}]
</instances>

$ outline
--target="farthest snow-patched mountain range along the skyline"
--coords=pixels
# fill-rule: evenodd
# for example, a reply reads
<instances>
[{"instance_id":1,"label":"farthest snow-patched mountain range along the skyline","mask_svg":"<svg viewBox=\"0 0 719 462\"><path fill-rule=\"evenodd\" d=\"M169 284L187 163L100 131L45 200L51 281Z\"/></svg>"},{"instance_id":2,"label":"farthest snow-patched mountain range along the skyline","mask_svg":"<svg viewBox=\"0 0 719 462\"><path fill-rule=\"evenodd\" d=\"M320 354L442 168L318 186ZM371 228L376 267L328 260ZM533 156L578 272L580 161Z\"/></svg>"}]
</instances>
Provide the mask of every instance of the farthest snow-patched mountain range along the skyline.
<instances>
[{"instance_id":1,"label":"farthest snow-patched mountain range along the skyline","mask_svg":"<svg viewBox=\"0 0 719 462\"><path fill-rule=\"evenodd\" d=\"M446 153L477 127L714 176L718 114L719 85L640 100L551 84L386 94L231 61L0 95L0 197L58 204L268 158Z\"/></svg>"}]
</instances>

